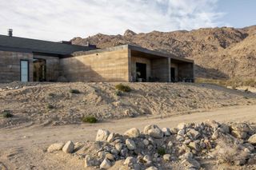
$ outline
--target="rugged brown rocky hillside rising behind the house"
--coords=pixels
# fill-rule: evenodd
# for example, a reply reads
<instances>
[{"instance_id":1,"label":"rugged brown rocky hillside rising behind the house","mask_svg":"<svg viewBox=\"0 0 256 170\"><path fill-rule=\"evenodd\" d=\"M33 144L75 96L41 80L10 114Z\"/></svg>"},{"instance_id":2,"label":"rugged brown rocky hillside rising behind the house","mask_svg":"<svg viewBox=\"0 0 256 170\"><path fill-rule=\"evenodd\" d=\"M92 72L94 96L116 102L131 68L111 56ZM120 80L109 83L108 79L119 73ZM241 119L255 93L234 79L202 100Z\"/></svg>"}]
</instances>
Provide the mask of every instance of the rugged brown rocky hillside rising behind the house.
<instances>
[{"instance_id":1,"label":"rugged brown rocky hillside rising behind the house","mask_svg":"<svg viewBox=\"0 0 256 170\"><path fill-rule=\"evenodd\" d=\"M147 34L126 30L123 35L96 34L89 38L74 38L71 42L77 45L90 42L99 48L133 44L174 53L178 57L194 59L197 77L256 78L256 26Z\"/></svg>"}]
</instances>

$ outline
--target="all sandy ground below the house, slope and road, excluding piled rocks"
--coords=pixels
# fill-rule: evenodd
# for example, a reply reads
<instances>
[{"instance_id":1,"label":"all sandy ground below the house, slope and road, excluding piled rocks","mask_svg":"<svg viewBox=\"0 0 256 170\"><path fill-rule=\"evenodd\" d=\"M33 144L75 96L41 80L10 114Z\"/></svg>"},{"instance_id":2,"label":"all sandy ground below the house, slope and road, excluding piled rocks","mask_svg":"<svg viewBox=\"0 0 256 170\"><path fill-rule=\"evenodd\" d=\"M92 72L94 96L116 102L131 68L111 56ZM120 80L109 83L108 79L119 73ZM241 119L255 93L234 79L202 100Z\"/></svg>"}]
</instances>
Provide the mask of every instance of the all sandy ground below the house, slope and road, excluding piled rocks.
<instances>
[{"instance_id":1,"label":"all sandy ground below the house, slope and road, excluding piled rocks","mask_svg":"<svg viewBox=\"0 0 256 170\"><path fill-rule=\"evenodd\" d=\"M124 134L130 128L143 132L146 125L175 128L184 122L193 123L192 128L194 124L214 120L230 128L234 123L250 126L245 138L235 139L242 144L256 132L253 131L256 94L250 90L189 83L124 83L130 86L130 93L116 93L117 84L14 82L0 85L0 110L8 110L14 115L0 117L0 169L86 169L86 155L81 154L80 146L87 147L86 154L96 152L97 147L92 146L98 129ZM70 89L77 89L79 93L71 93ZM97 124L82 123L81 118L86 116L97 117L99 121ZM173 136L176 133L172 133ZM47 152L50 144L68 140L74 142L76 151L72 154ZM194 153L194 159L198 159L197 154ZM255 156L255 148L250 154ZM116 161L112 169L128 169L123 167L122 161ZM253 160L242 166L217 164L215 160L200 160L200 163L201 169L256 168ZM165 164L162 169L170 167L184 168L177 160ZM161 164L158 168L161 169Z\"/></svg>"}]
</instances>

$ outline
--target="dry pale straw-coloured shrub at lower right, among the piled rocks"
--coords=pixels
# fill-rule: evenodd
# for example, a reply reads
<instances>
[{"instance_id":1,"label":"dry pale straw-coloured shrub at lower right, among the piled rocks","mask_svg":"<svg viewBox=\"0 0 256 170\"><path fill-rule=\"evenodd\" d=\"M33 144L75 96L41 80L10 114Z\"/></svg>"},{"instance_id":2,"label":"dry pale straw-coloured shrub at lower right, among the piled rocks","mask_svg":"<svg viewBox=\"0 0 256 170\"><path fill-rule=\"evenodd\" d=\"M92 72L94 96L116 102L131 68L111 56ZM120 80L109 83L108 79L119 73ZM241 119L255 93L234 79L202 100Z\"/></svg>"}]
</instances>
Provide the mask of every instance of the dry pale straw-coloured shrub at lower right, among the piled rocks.
<instances>
[{"instance_id":1,"label":"dry pale straw-coloured shrub at lower right, among the piled rocks","mask_svg":"<svg viewBox=\"0 0 256 170\"><path fill-rule=\"evenodd\" d=\"M245 161L248 154L240 149L237 144L229 140L218 140L218 147L214 152L218 161L226 164L234 164L236 161Z\"/></svg>"}]
</instances>

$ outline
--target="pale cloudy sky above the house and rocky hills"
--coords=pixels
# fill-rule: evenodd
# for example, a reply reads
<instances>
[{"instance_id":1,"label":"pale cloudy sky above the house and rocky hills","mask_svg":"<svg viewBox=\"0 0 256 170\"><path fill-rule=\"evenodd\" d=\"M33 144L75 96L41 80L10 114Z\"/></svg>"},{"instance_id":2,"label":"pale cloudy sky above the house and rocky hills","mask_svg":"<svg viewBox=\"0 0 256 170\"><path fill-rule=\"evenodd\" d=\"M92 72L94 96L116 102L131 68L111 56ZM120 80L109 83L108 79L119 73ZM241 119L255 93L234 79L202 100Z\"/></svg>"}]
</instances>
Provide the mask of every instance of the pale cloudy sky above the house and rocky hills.
<instances>
[{"instance_id":1,"label":"pale cloudy sky above the house and rocky hills","mask_svg":"<svg viewBox=\"0 0 256 170\"><path fill-rule=\"evenodd\" d=\"M255 0L0 0L0 34L50 41L256 24Z\"/></svg>"}]
</instances>

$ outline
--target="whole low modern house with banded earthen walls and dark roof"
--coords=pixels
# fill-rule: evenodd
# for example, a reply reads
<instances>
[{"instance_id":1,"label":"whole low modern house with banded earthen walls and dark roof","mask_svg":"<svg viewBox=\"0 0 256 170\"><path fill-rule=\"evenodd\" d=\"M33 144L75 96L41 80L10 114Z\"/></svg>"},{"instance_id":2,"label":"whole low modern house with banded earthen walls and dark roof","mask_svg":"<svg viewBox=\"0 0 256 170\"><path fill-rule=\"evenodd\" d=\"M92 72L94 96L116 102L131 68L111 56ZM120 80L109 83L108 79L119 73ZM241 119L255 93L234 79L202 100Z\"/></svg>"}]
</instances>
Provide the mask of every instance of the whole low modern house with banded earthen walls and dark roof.
<instances>
[{"instance_id":1,"label":"whole low modern house with banded earthen walls and dark roof","mask_svg":"<svg viewBox=\"0 0 256 170\"><path fill-rule=\"evenodd\" d=\"M194 61L135 45L95 45L0 35L0 82L194 81Z\"/></svg>"}]
</instances>

